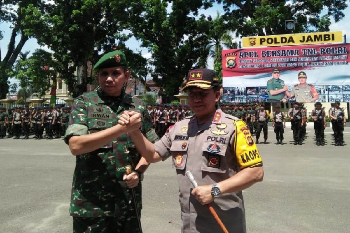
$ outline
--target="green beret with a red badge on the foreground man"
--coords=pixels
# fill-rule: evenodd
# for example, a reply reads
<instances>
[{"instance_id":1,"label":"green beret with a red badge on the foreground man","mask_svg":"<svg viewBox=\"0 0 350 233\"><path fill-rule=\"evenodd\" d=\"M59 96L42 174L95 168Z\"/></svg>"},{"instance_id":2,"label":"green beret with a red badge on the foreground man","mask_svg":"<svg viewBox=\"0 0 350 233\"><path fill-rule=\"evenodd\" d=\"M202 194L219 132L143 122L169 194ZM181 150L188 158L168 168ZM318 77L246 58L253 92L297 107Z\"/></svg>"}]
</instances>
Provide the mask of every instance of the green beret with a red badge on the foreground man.
<instances>
[{"instance_id":1,"label":"green beret with a red badge on the foreground man","mask_svg":"<svg viewBox=\"0 0 350 233\"><path fill-rule=\"evenodd\" d=\"M126 66L126 57L122 51L114 50L104 54L102 58L97 61L93 70L117 66Z\"/></svg>"}]
</instances>

